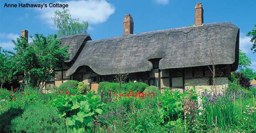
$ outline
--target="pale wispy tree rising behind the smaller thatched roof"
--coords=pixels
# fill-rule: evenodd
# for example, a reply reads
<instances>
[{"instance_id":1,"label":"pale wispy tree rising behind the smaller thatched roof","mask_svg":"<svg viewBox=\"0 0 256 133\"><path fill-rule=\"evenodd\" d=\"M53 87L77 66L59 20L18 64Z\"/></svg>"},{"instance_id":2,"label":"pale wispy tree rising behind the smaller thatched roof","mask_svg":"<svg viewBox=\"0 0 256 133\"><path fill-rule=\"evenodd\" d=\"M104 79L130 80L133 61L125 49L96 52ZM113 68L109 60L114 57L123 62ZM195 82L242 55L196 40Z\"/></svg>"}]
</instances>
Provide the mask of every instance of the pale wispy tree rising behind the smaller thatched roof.
<instances>
[{"instance_id":1,"label":"pale wispy tree rising behind the smaller thatched roof","mask_svg":"<svg viewBox=\"0 0 256 133\"><path fill-rule=\"evenodd\" d=\"M52 19L58 28L58 37L87 33L88 22L79 23L79 19L72 19L69 10L55 11Z\"/></svg>"}]
</instances>

